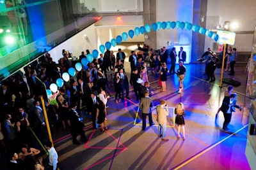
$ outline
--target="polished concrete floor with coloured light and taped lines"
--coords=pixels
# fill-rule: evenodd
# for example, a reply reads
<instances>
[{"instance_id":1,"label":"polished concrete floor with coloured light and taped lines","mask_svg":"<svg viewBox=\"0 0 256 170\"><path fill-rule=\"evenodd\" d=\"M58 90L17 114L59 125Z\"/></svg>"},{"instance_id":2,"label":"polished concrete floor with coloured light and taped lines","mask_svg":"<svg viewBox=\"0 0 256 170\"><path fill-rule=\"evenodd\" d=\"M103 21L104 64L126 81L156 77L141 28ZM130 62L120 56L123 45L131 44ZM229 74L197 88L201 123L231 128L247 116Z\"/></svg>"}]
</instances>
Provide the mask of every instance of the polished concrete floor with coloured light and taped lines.
<instances>
[{"instance_id":1,"label":"polished concrete floor with coloured light and taped lines","mask_svg":"<svg viewBox=\"0 0 256 170\"><path fill-rule=\"evenodd\" d=\"M149 71L150 87L154 92L154 105L165 99L170 106L166 137L162 141L157 137L156 110L153 111L155 125L141 131L141 117L137 114L138 104L132 87L131 99L115 103L113 98L113 80L109 79L108 128L106 132L92 129L92 122L85 118L85 133L89 141L83 145L72 145L70 135L57 139L52 134L54 146L59 155L62 169L251 169L245 156L248 126L248 104L246 97L246 64L236 64L233 78L241 81L234 87L237 104L244 108L232 114L230 132L221 130L223 113L215 118L221 106L224 91L228 85L220 88L220 72L216 69L215 83L205 81L204 66L186 65L184 92L178 93L179 81L176 75L170 75L166 82L166 92L157 89L158 79ZM176 66L178 67L178 66ZM129 62L125 69L129 73ZM168 68L170 66L168 65ZM173 124L173 107L184 103L186 110L186 140L177 139L177 126Z\"/></svg>"}]
</instances>

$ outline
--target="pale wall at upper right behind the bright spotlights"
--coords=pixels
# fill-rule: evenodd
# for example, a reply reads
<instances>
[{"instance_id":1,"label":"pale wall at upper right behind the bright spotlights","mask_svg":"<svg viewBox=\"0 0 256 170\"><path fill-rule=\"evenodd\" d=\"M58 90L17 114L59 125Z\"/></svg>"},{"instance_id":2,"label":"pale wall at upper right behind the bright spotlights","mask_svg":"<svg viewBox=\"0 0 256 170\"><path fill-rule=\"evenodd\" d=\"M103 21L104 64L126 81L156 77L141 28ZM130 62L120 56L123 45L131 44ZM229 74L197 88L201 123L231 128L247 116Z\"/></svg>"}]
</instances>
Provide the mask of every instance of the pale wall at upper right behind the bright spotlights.
<instances>
[{"instance_id":1,"label":"pale wall at upper right behind the bright spotlights","mask_svg":"<svg viewBox=\"0 0 256 170\"><path fill-rule=\"evenodd\" d=\"M220 24L230 21L230 24L237 22L236 29L230 27L230 31L254 31L256 20L256 1L255 0L208 0L207 16L220 16ZM211 20L207 20L210 26ZM210 28L214 29L214 28ZM216 29L216 28L215 28ZM252 50L253 34L236 34L235 44L239 52L250 52ZM209 38L205 38L205 50L211 45ZM210 46L212 47L212 46Z\"/></svg>"}]
</instances>

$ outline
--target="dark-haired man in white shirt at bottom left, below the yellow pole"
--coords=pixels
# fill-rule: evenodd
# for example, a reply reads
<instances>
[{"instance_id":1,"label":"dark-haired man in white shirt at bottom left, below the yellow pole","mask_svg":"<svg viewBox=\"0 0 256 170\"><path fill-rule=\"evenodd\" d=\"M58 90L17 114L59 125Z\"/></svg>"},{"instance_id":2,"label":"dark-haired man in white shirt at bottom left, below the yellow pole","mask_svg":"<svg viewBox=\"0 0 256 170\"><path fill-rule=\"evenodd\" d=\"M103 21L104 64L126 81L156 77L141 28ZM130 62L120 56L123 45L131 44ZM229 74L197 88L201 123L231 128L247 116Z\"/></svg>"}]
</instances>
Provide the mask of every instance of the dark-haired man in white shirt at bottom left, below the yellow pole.
<instances>
[{"instance_id":1,"label":"dark-haired man in white shirt at bottom left, below the yellow pole","mask_svg":"<svg viewBox=\"0 0 256 170\"><path fill-rule=\"evenodd\" d=\"M52 146L51 141L47 141L45 143L45 148L48 150L49 166L52 170L56 170L58 168L58 154Z\"/></svg>"}]
</instances>

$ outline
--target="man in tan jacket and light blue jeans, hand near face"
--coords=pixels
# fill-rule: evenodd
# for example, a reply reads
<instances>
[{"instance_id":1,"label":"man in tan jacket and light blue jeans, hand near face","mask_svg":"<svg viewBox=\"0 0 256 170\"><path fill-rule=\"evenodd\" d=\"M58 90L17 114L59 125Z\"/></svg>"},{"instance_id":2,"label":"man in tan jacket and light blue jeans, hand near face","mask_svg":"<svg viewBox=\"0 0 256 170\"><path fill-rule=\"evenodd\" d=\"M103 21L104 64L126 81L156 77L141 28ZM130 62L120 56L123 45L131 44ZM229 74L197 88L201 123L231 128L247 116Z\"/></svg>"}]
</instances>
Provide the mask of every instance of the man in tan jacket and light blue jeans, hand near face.
<instances>
[{"instance_id":1,"label":"man in tan jacket and light blue jeans, hand near face","mask_svg":"<svg viewBox=\"0 0 256 170\"><path fill-rule=\"evenodd\" d=\"M163 141L168 141L166 137L166 124L167 124L167 116L169 115L168 112L168 105L166 101L161 100L160 105L156 107L157 117L156 120L158 122L158 137L162 138Z\"/></svg>"}]
</instances>

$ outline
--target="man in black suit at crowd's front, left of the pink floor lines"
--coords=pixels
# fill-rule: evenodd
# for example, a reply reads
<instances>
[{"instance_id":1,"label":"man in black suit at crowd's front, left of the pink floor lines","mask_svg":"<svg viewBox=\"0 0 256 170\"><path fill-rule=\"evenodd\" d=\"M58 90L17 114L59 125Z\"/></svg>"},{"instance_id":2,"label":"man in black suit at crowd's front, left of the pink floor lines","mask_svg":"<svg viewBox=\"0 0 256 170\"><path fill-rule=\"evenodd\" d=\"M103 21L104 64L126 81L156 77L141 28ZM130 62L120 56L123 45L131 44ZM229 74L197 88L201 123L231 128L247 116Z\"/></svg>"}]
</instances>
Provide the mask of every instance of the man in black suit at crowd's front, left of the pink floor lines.
<instances>
[{"instance_id":1,"label":"man in black suit at crowd's front, left of the pink floor lines","mask_svg":"<svg viewBox=\"0 0 256 170\"><path fill-rule=\"evenodd\" d=\"M78 134L80 134L81 136L82 143L87 142L88 139L86 139L86 136L84 134L83 118L81 118L76 108L77 108L76 104L72 104L71 110L70 110L70 130L71 130L73 144L79 145L80 143L76 139Z\"/></svg>"}]
</instances>

